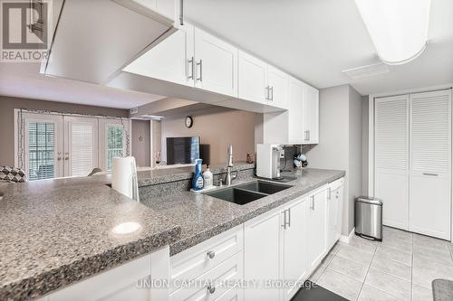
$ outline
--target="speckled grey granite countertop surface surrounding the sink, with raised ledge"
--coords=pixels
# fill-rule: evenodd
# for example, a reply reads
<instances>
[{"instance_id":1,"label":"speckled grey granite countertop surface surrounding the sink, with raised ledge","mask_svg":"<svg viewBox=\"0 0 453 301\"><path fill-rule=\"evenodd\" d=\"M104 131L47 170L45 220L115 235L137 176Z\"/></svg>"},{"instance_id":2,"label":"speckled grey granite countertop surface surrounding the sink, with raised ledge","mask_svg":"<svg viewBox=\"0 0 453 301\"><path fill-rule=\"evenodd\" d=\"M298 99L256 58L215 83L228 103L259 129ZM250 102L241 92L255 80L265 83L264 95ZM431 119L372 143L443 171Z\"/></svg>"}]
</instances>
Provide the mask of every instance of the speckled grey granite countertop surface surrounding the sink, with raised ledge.
<instances>
[{"instance_id":1,"label":"speckled grey granite countertop surface surrounding the sink, with raised ledge","mask_svg":"<svg viewBox=\"0 0 453 301\"><path fill-rule=\"evenodd\" d=\"M236 165L237 170L250 168ZM212 170L225 171L224 166ZM297 176L287 183L292 188L245 205L190 192L133 202L106 185L110 174L2 185L0 300L43 296L162 246L169 245L175 255L345 173L306 169L289 174ZM140 172L140 181L149 185L190 176L191 168L162 169ZM140 223L140 229L112 232L128 221Z\"/></svg>"}]
</instances>

